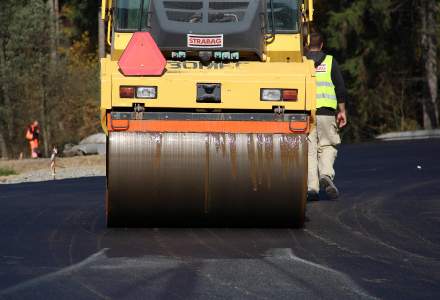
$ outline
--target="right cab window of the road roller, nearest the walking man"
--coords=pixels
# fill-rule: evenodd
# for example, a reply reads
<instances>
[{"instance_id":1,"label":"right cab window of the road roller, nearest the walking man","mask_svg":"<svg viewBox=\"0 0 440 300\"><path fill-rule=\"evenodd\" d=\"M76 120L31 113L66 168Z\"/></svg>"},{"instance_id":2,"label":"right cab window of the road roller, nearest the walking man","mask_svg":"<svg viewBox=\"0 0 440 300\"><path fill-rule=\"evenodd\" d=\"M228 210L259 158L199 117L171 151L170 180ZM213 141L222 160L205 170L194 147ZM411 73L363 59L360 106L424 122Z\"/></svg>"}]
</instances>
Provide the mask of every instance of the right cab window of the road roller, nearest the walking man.
<instances>
[{"instance_id":1,"label":"right cab window of the road roller, nearest the walking man","mask_svg":"<svg viewBox=\"0 0 440 300\"><path fill-rule=\"evenodd\" d=\"M267 2L267 31L272 32L272 10L275 33L299 32L299 3L298 0L266 0Z\"/></svg>"}]
</instances>

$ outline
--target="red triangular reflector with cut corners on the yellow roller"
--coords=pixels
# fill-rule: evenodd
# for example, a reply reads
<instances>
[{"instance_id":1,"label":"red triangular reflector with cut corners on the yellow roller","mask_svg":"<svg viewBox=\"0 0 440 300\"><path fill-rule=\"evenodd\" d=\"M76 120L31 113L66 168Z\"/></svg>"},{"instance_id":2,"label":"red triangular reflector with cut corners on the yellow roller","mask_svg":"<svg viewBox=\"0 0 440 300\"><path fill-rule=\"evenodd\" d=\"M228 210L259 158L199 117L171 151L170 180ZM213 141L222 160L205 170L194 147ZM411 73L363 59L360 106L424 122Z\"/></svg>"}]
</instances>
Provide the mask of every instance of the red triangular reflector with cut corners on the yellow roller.
<instances>
[{"instance_id":1,"label":"red triangular reflector with cut corners on the yellow roller","mask_svg":"<svg viewBox=\"0 0 440 300\"><path fill-rule=\"evenodd\" d=\"M159 76L166 63L149 32L135 32L118 62L126 76Z\"/></svg>"}]
</instances>

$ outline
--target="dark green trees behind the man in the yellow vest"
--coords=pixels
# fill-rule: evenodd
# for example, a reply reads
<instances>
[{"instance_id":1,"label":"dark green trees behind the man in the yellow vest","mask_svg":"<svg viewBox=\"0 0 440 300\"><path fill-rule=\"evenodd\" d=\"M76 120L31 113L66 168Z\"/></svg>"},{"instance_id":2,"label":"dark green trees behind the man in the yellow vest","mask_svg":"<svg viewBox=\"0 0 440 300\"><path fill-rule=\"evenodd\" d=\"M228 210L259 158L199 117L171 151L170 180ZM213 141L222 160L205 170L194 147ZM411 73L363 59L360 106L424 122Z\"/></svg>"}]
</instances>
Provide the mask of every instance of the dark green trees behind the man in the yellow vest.
<instances>
[{"instance_id":1,"label":"dark green trees behind the man in the yellow vest","mask_svg":"<svg viewBox=\"0 0 440 300\"><path fill-rule=\"evenodd\" d=\"M340 62L350 94L347 139L421 127L417 4L318 2L317 28L326 36L325 50Z\"/></svg>"}]
</instances>

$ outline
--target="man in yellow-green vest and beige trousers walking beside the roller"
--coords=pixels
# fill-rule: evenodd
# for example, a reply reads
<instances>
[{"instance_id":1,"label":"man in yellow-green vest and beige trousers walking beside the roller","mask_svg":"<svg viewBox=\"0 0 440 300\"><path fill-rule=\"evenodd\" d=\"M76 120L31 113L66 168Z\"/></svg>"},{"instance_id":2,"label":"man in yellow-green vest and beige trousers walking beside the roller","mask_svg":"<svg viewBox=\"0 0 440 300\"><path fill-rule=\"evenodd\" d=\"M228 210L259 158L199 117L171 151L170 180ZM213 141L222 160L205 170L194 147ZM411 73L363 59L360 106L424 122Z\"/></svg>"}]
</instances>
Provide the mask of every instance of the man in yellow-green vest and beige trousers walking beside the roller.
<instances>
[{"instance_id":1,"label":"man in yellow-green vest and beige trousers walking beside the roller","mask_svg":"<svg viewBox=\"0 0 440 300\"><path fill-rule=\"evenodd\" d=\"M345 102L347 90L336 60L322 51L324 39L320 33L310 35L308 59L315 62L316 68L316 127L308 137L309 174L308 199L319 200L322 189L327 197L336 199L339 191L333 180L335 162L341 143L339 128L347 124Z\"/></svg>"}]
</instances>

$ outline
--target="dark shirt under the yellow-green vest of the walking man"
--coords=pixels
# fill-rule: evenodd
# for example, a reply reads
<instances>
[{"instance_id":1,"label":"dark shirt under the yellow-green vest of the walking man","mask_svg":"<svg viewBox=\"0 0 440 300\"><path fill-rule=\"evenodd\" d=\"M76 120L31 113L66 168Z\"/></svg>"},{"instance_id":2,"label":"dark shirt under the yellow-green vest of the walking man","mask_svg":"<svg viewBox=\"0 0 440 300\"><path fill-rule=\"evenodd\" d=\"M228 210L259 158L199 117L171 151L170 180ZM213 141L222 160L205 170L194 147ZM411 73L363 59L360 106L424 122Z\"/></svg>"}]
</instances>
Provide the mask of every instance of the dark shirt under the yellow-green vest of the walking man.
<instances>
[{"instance_id":1,"label":"dark shirt under the yellow-green vest of the walking man","mask_svg":"<svg viewBox=\"0 0 440 300\"><path fill-rule=\"evenodd\" d=\"M323 51L308 51L306 53L306 57L308 59L312 59L315 63L322 62L325 55L326 54ZM336 98L338 99L338 103L347 103L348 94L347 89L345 88L344 78L342 78L341 68L339 67L338 62L334 57L332 63L331 77L333 85L335 86ZM333 116L335 112L336 111L330 107L320 107L316 110L316 114L326 116Z\"/></svg>"}]
</instances>

